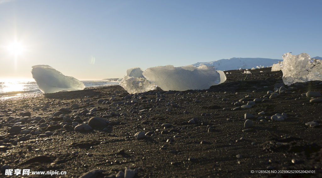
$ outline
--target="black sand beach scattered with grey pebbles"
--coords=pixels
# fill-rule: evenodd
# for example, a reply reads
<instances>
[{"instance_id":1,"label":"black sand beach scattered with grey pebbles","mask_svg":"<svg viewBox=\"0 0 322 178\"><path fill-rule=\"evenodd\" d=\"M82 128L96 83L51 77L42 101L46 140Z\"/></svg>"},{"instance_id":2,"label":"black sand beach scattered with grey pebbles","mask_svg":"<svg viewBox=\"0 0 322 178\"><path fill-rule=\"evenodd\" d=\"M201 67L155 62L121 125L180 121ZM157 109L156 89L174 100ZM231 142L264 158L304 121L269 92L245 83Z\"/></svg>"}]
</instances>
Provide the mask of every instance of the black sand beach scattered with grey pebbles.
<instances>
[{"instance_id":1,"label":"black sand beach scattered with grey pebbles","mask_svg":"<svg viewBox=\"0 0 322 178\"><path fill-rule=\"evenodd\" d=\"M225 71L231 74L220 85L172 94L157 89L129 95L109 86L2 97L0 176L100 178L128 167L134 177L322 177L322 105L310 102L321 97L306 96L322 93L321 81L269 98L268 91L282 82L282 72L270 70ZM254 116L247 128L246 113ZM283 114L284 121L272 121L274 114ZM90 131L74 131L92 117L109 123L96 121ZM306 125L312 121L317 126ZM146 136L136 139L140 131ZM5 175L5 169L13 169L13 175ZM15 169L30 169L30 175L15 175Z\"/></svg>"}]
</instances>

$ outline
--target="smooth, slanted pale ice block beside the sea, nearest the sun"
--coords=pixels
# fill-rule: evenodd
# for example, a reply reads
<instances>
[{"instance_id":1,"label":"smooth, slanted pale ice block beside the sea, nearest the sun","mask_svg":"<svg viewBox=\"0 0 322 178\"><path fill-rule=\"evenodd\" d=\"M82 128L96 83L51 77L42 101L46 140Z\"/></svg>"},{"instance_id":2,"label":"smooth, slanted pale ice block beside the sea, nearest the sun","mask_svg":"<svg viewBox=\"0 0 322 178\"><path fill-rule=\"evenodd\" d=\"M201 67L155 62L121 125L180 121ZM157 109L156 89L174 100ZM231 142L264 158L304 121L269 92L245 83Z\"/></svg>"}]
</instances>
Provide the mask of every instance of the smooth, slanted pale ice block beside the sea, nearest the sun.
<instances>
[{"instance_id":1,"label":"smooth, slanted pale ice block beside the sea, nearest the sun","mask_svg":"<svg viewBox=\"0 0 322 178\"><path fill-rule=\"evenodd\" d=\"M81 81L74 77L65 76L49 65L34 65L32 68L33 79L43 93L83 90L85 88Z\"/></svg>"}]
</instances>

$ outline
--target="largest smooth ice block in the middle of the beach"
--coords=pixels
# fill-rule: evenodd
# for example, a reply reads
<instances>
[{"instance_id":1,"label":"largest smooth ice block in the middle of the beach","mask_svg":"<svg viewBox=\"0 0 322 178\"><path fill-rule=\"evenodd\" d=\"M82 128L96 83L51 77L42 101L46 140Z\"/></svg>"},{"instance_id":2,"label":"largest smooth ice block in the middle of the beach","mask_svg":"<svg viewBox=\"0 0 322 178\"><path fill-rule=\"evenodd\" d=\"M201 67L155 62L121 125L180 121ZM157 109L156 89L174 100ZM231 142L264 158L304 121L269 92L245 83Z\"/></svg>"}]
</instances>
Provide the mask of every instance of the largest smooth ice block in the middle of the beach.
<instances>
[{"instance_id":1,"label":"largest smooth ice block in the middle of the beach","mask_svg":"<svg viewBox=\"0 0 322 178\"><path fill-rule=\"evenodd\" d=\"M223 71L216 71L214 66L205 65L199 67L194 67L193 65L151 67L143 72L143 76L165 91L209 89L213 85L226 81Z\"/></svg>"}]
</instances>

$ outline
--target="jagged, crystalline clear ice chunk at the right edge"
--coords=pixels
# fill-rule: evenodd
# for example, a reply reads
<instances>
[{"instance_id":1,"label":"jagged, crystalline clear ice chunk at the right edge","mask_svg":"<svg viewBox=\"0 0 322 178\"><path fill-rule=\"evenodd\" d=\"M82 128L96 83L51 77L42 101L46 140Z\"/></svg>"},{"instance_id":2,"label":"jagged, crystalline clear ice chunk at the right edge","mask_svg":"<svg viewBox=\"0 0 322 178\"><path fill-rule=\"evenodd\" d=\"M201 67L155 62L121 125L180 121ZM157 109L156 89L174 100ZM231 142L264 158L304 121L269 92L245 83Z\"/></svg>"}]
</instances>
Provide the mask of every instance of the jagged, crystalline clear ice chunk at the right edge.
<instances>
[{"instance_id":1,"label":"jagged, crystalline clear ice chunk at the right edge","mask_svg":"<svg viewBox=\"0 0 322 178\"><path fill-rule=\"evenodd\" d=\"M301 53L300 55L285 53L281 70L283 72L283 82L286 85L291 85L295 82L322 80L322 61L311 59L306 53Z\"/></svg>"}]
</instances>

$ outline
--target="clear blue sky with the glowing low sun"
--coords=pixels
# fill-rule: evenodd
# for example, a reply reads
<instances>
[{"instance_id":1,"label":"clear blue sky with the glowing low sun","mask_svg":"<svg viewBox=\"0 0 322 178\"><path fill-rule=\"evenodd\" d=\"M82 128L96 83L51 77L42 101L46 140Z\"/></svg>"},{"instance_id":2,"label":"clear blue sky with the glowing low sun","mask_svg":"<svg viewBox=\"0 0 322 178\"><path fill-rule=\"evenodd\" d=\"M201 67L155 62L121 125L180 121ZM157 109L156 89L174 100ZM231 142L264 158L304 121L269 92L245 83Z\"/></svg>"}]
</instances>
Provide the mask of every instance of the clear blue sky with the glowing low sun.
<instances>
[{"instance_id":1,"label":"clear blue sky with the glowing low sun","mask_svg":"<svg viewBox=\"0 0 322 178\"><path fill-rule=\"evenodd\" d=\"M322 56L321 9L320 0L0 0L0 81L32 81L41 64L101 80L132 67Z\"/></svg>"}]
</instances>

